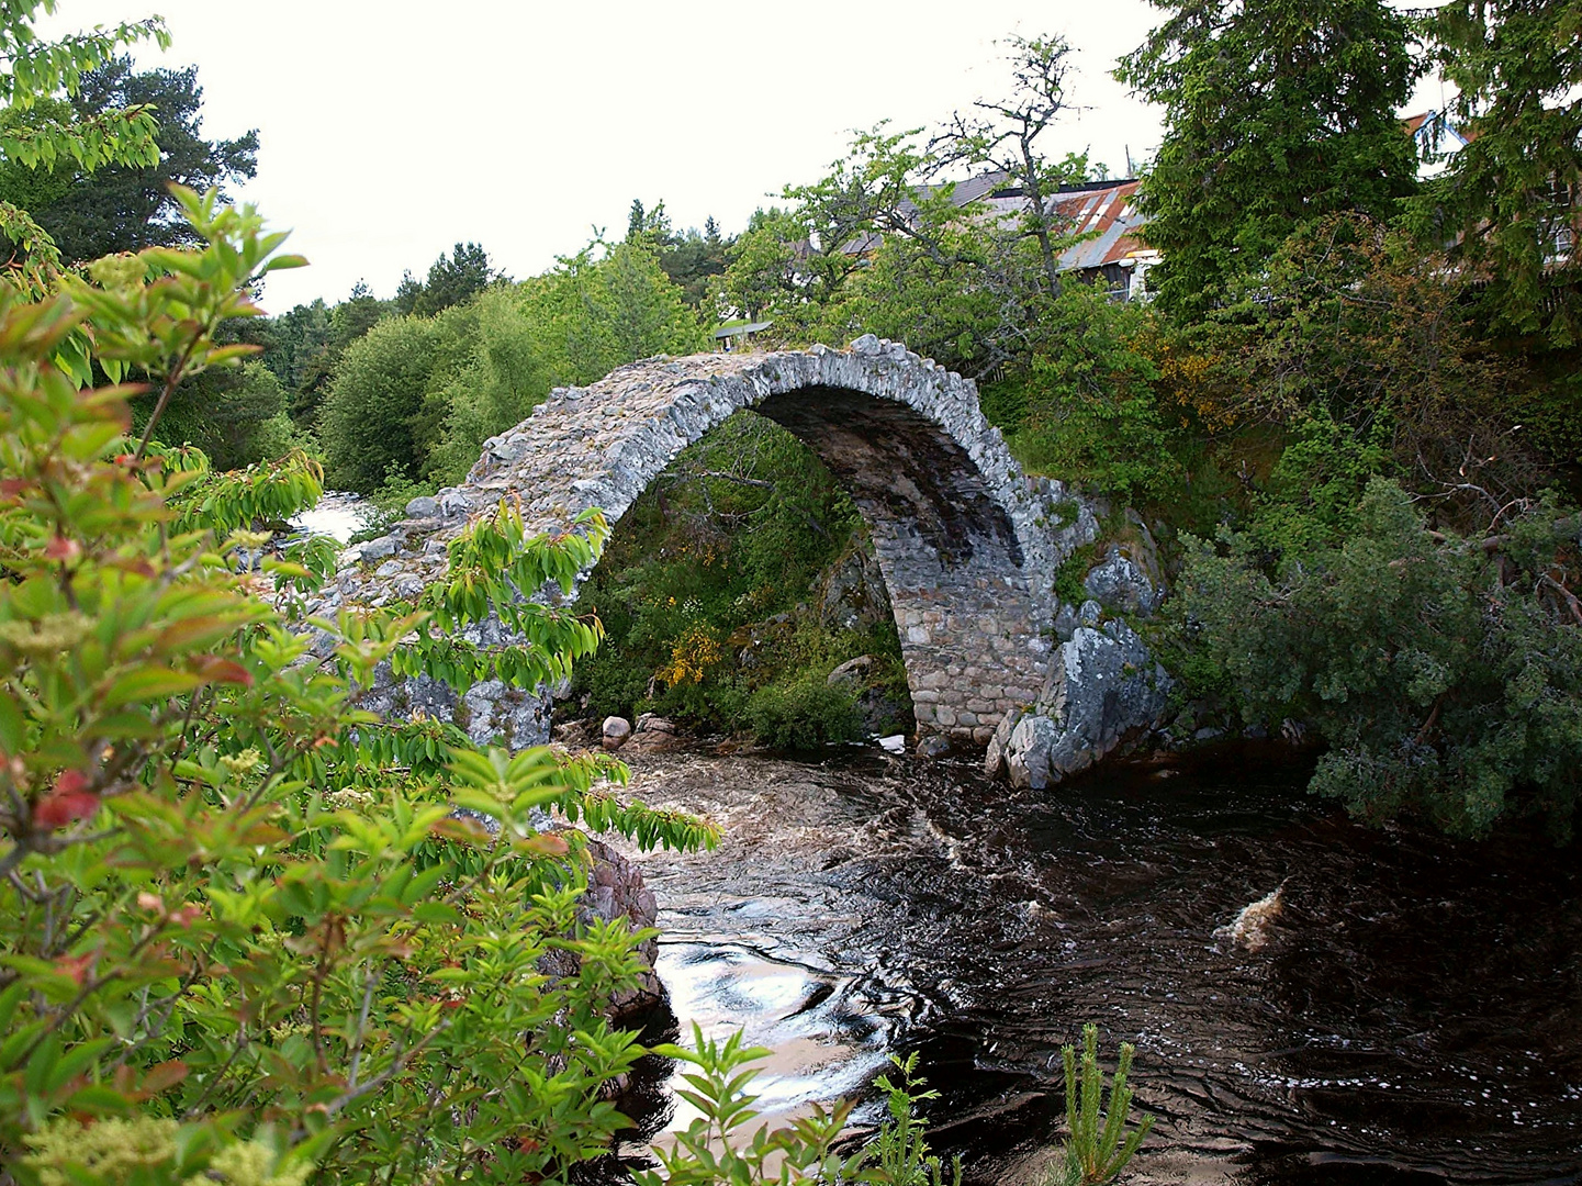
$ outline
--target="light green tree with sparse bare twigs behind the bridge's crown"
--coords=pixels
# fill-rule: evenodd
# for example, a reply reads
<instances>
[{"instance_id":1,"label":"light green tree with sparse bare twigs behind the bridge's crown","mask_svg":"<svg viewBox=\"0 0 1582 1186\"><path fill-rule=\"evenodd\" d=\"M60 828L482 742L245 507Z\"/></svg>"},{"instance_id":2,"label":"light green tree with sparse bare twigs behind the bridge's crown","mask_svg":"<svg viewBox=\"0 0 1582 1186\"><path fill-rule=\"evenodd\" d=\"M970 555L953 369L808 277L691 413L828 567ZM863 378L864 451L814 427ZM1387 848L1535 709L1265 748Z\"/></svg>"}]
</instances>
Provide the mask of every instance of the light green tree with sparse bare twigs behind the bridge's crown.
<instances>
[{"instance_id":1,"label":"light green tree with sparse bare twigs behind the bridge's crown","mask_svg":"<svg viewBox=\"0 0 1582 1186\"><path fill-rule=\"evenodd\" d=\"M927 147L916 130L880 124L859 133L824 177L788 185L788 206L756 212L736 241L726 302L772 318L785 342L873 333L970 375L1025 361L1046 337L1043 309L1060 287L1050 260L1071 245L1069 228L1036 214L1043 201L1005 219L982 200L959 201L949 182L930 182L963 163L1006 171L1008 184L1041 196L1085 177L1082 157L1039 155L1041 128L1062 105L1060 82L1030 79L1058 73L1065 52L1063 43L1017 41L1017 78L1027 86L1003 108L987 105L992 119L959 120Z\"/></svg>"}]
</instances>

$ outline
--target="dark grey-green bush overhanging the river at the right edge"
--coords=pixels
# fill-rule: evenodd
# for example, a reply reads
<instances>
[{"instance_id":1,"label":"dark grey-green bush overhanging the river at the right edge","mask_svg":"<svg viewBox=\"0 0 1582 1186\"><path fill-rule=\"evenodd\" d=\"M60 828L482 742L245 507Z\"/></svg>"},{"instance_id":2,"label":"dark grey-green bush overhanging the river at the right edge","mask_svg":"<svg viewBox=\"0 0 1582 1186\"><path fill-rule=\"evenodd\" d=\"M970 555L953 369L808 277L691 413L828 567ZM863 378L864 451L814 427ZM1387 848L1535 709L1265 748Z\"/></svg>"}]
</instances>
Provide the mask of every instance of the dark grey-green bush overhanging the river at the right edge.
<instances>
[{"instance_id":1,"label":"dark grey-green bush overhanging the river at the right edge","mask_svg":"<svg viewBox=\"0 0 1582 1186\"><path fill-rule=\"evenodd\" d=\"M1552 499L1463 540L1373 478L1348 530L1272 570L1256 532L1198 545L1185 640L1248 720L1308 720L1313 790L1370 820L1413 812L1482 834L1509 812L1565 834L1582 760L1579 519Z\"/></svg>"}]
</instances>

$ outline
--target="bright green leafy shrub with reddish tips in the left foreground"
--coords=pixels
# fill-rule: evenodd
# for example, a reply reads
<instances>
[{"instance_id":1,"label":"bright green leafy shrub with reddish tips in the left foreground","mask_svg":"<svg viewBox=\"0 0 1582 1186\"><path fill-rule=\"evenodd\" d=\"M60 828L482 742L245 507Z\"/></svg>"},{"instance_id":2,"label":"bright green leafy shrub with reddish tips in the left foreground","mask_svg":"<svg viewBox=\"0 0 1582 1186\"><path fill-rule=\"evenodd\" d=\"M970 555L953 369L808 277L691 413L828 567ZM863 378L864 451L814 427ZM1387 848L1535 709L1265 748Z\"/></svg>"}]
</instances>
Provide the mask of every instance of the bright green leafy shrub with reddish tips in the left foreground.
<instances>
[{"instance_id":1,"label":"bright green leafy shrub with reddish tips in the left foreground","mask_svg":"<svg viewBox=\"0 0 1582 1186\"><path fill-rule=\"evenodd\" d=\"M625 1124L607 1086L642 1051L609 1004L644 936L579 922L581 834L530 812L644 846L717 833L595 789L612 763L479 752L353 698L386 659L465 667L441 630L489 614L525 643L464 676L563 676L595 627L517 605L514 583L570 587L601 523L527 538L503 508L452 542L422 608L315 621L329 651L312 656L288 622L326 557L266 561L275 600L237 570L259 523L316 497L316 466L215 473L196 450L139 448L125 390L79 390L51 361L85 321L101 366L168 385L240 358L214 326L247 315L278 236L182 201L206 249L150 249L35 304L0 293L5 1170L565 1176ZM577 971L546 977L551 952Z\"/></svg>"}]
</instances>

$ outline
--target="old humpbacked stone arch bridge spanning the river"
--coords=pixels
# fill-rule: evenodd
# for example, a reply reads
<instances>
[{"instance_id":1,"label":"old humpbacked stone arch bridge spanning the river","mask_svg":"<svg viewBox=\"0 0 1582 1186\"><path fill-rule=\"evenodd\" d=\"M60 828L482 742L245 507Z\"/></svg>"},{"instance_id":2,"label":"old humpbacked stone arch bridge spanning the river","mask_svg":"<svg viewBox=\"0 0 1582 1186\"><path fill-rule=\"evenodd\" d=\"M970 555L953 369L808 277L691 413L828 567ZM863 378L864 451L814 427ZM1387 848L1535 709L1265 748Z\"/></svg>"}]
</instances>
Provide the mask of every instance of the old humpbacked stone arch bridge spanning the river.
<instances>
[{"instance_id":1,"label":"old humpbacked stone arch bridge spanning the river","mask_svg":"<svg viewBox=\"0 0 1582 1186\"><path fill-rule=\"evenodd\" d=\"M348 553L331 602L418 592L443 570L445 540L506 496L535 530L563 530L590 507L614 526L687 445L742 409L805 442L865 518L919 732L987 744L1001 722L1060 697L1054 580L1095 538L1092 507L1020 472L971 380L872 336L846 350L661 356L557 388L486 443L460 486L414 499L389 535ZM468 732L500 732L498 697L475 692Z\"/></svg>"}]
</instances>

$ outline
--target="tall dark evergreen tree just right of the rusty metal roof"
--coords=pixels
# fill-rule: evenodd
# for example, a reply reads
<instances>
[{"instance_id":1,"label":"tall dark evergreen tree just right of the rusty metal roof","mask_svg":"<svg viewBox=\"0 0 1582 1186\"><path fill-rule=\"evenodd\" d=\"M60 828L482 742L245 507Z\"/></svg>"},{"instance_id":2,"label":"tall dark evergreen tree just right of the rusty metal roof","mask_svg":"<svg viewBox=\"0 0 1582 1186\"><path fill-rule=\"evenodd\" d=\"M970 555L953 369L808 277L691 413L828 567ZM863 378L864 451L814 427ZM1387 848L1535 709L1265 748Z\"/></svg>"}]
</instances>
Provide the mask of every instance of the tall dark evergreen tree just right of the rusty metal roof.
<instances>
[{"instance_id":1,"label":"tall dark evergreen tree just right of the rusty metal roof","mask_svg":"<svg viewBox=\"0 0 1582 1186\"><path fill-rule=\"evenodd\" d=\"M1139 204L1166 310L1210 307L1300 223L1395 212L1416 187L1398 108L1421 67L1381 0L1153 0L1169 13L1115 71L1166 109Z\"/></svg>"}]
</instances>

